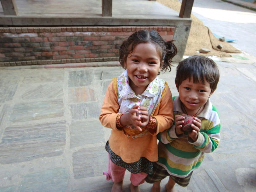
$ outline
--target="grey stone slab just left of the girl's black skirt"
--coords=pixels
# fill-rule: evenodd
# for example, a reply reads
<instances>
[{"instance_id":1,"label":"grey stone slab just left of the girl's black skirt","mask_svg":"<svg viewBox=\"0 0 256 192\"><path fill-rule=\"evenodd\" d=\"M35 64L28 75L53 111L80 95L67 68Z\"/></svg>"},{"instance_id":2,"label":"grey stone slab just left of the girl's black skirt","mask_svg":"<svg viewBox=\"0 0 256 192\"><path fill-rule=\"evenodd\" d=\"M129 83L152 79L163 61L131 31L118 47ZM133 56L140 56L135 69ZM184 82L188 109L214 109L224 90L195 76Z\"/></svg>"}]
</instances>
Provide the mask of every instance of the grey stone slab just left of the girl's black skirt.
<instances>
[{"instance_id":1,"label":"grey stone slab just left of the girl's black skirt","mask_svg":"<svg viewBox=\"0 0 256 192\"><path fill-rule=\"evenodd\" d=\"M108 152L105 146L84 148L73 155L74 178L100 176L108 170Z\"/></svg>"}]
</instances>

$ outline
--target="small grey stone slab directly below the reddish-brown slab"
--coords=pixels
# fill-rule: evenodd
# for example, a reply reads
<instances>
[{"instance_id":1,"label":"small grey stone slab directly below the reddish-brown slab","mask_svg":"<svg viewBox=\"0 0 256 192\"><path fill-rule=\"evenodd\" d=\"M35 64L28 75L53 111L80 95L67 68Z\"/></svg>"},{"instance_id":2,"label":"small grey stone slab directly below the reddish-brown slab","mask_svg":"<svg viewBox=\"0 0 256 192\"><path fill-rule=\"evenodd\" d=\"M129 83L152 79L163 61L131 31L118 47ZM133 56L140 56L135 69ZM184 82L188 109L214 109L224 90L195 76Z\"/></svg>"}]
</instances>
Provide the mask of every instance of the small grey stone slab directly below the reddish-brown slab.
<instances>
[{"instance_id":1,"label":"small grey stone slab directly below the reddish-brown slab","mask_svg":"<svg viewBox=\"0 0 256 192\"><path fill-rule=\"evenodd\" d=\"M72 119L82 120L88 118L99 119L100 106L97 102L80 103L69 105Z\"/></svg>"}]
</instances>

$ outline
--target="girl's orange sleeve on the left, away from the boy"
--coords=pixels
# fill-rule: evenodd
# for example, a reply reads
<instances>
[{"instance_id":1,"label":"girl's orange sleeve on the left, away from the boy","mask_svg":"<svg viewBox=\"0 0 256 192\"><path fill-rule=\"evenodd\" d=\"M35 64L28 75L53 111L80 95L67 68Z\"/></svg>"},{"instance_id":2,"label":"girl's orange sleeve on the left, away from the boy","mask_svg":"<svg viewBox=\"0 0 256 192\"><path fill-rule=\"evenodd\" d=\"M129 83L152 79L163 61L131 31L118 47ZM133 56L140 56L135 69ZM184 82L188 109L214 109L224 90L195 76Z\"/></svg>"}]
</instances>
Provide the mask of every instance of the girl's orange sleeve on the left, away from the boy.
<instances>
[{"instance_id":1,"label":"girl's orange sleeve on the left, away from the boy","mask_svg":"<svg viewBox=\"0 0 256 192\"><path fill-rule=\"evenodd\" d=\"M113 81L109 84L108 89L106 90L105 98L103 105L101 107L100 122L106 128L111 128L116 131L122 131L117 129L116 119L117 116L121 113L118 113L119 103L117 95L114 90Z\"/></svg>"}]
</instances>

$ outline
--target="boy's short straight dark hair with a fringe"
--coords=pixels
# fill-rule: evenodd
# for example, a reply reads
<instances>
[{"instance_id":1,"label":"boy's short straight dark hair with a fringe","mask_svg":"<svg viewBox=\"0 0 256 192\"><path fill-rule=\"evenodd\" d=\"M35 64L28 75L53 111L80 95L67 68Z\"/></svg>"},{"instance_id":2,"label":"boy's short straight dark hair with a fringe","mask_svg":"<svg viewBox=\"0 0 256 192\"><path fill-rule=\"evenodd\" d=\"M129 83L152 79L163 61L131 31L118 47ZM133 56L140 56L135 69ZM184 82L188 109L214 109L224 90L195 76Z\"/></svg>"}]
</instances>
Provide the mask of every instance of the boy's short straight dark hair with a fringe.
<instances>
[{"instance_id":1,"label":"boy's short straight dark hair with a fringe","mask_svg":"<svg viewBox=\"0 0 256 192\"><path fill-rule=\"evenodd\" d=\"M220 79L217 64L203 55L194 55L179 62L175 84L180 86L182 81L193 78L194 83L210 83L211 93L217 88Z\"/></svg>"}]
</instances>

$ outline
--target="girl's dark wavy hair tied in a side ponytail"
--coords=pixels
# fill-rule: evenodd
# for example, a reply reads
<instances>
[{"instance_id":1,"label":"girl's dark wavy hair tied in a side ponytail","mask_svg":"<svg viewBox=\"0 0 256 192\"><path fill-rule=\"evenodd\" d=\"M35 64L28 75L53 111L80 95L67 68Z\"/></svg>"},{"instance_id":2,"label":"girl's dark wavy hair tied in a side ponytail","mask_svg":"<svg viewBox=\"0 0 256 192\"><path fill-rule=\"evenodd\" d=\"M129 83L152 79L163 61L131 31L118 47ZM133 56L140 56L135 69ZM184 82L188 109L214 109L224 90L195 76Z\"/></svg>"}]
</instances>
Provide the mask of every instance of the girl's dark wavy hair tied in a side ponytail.
<instances>
[{"instance_id":1,"label":"girl's dark wavy hair tied in a side ponytail","mask_svg":"<svg viewBox=\"0 0 256 192\"><path fill-rule=\"evenodd\" d=\"M133 52L136 45L151 42L155 45L156 51L160 54L160 62L164 61L161 71L166 71L167 69L171 71L172 58L178 53L177 47L173 41L174 40L165 42L155 30L139 30L122 42L119 49L119 62L124 68L127 56Z\"/></svg>"}]
</instances>

